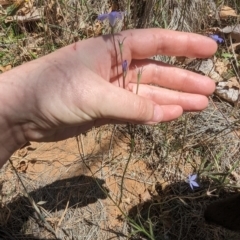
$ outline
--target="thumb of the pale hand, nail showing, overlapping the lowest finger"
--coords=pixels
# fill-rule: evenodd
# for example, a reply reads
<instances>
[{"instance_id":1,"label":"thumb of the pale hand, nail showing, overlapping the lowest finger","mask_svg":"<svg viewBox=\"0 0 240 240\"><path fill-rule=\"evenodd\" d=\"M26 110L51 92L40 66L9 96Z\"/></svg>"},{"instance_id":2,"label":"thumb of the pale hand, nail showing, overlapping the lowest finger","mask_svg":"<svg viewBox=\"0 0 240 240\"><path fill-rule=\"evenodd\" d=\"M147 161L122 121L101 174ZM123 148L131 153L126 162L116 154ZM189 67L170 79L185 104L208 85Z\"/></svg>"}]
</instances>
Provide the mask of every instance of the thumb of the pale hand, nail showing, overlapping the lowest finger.
<instances>
[{"instance_id":1,"label":"thumb of the pale hand, nail showing, overlapping the lowest finger","mask_svg":"<svg viewBox=\"0 0 240 240\"><path fill-rule=\"evenodd\" d=\"M105 94L103 94L105 93ZM133 94L102 80L88 96L84 112L91 111L92 119L113 119L123 122L158 123L182 114L181 106L159 106L152 100ZM99 102L99 99L101 101ZM178 105L178 104L177 104Z\"/></svg>"}]
</instances>

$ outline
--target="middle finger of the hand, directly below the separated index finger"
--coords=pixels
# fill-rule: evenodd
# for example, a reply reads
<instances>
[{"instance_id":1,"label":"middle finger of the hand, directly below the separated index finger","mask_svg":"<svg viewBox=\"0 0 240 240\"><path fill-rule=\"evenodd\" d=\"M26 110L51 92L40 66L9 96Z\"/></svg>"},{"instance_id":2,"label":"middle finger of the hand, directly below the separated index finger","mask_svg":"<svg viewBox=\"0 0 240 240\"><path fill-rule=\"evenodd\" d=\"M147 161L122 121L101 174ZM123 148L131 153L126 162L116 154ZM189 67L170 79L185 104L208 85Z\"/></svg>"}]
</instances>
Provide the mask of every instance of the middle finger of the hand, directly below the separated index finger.
<instances>
[{"instance_id":1,"label":"middle finger of the hand, directly below the separated index finger","mask_svg":"<svg viewBox=\"0 0 240 240\"><path fill-rule=\"evenodd\" d=\"M154 60L132 61L127 74L130 82L137 82L136 68L143 69L141 83L204 95L210 95L215 90L215 83L209 77Z\"/></svg>"}]
</instances>

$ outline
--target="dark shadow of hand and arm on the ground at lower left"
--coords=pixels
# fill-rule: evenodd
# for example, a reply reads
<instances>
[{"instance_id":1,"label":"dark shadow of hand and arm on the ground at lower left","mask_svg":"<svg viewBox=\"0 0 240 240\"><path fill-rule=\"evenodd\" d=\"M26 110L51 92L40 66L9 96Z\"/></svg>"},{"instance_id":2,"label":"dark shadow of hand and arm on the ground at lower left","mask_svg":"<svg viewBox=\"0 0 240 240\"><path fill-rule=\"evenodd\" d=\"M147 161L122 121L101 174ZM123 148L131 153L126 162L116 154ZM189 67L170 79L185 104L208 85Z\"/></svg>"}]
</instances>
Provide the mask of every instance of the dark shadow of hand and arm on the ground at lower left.
<instances>
[{"instance_id":1,"label":"dark shadow of hand and arm on the ground at lower left","mask_svg":"<svg viewBox=\"0 0 240 240\"><path fill-rule=\"evenodd\" d=\"M68 209L79 209L95 203L98 199L107 197L106 192L108 192L108 189L103 186L104 183L101 179L82 175L58 180L30 192L29 195L36 203L43 203L43 205L40 205L42 209L51 213L64 210L67 204ZM33 231L36 231L34 236L32 233L23 234L28 229L27 222L31 218L35 219L40 226L42 225L40 220L37 219L36 212L28 198L25 196L18 197L15 201L0 208L0 239L43 239L34 236L37 235L37 231L46 231L44 228L33 229Z\"/></svg>"}]
</instances>

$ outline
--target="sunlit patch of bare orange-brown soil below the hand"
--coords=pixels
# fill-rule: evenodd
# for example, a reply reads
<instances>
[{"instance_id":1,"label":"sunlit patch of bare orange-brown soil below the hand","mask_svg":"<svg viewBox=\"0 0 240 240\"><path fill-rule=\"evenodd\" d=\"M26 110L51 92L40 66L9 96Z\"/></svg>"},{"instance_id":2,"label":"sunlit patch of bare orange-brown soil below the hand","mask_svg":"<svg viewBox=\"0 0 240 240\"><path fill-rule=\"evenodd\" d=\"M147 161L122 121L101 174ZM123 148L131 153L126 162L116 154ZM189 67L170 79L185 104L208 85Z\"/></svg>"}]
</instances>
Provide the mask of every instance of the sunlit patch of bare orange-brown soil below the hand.
<instances>
[{"instance_id":1,"label":"sunlit patch of bare orange-brown soil below the hand","mask_svg":"<svg viewBox=\"0 0 240 240\"><path fill-rule=\"evenodd\" d=\"M106 197L103 199L107 224L99 222L99 225L105 229L120 229L125 221L119 207L123 212L128 213L133 206L150 200L156 182L162 179L152 174L152 170L148 169L143 159L133 157L125 174L122 201L118 207L122 175L129 157L129 138L116 132L112 136L112 132L112 127L103 127L93 129L86 136L79 136L80 152L76 138L56 143L33 142L30 146L15 152L12 162L29 192L58 180L81 175L103 179L103 186L108 189L112 200ZM9 163L1 171L1 183L2 206L7 206L9 202L14 202L24 194ZM82 188L85 187L83 184ZM88 208L88 205L85 208ZM47 219L52 224L53 218ZM56 219L57 222L59 220ZM2 221L4 222L3 219ZM6 219L5 224L7 224ZM127 234L126 230L125 233Z\"/></svg>"}]
</instances>

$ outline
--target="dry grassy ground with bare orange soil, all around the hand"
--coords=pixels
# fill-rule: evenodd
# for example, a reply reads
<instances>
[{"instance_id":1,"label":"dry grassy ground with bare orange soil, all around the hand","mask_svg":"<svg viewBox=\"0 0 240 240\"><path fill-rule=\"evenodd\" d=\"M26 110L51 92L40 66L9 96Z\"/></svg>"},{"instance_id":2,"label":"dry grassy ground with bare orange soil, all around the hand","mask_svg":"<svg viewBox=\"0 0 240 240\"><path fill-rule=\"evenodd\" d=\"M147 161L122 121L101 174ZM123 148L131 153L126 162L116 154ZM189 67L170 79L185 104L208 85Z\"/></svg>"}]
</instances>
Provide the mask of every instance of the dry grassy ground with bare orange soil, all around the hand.
<instances>
[{"instance_id":1,"label":"dry grassy ground with bare orange soil, all around the hand","mask_svg":"<svg viewBox=\"0 0 240 240\"><path fill-rule=\"evenodd\" d=\"M0 66L4 71L108 33L96 17L111 9L129 13L119 30L162 27L204 34L224 24L209 17L224 1L215 2L29 0L4 7ZM240 8L237 1L225 4ZM32 9L39 11L38 20L16 20ZM213 96L205 111L171 123L104 126L77 139L32 143L13 155L14 167L7 163L1 169L0 238L237 240L239 233L209 225L203 216L209 203L238 192L239 126L239 109ZM192 173L200 184L194 191L186 183Z\"/></svg>"}]
</instances>

